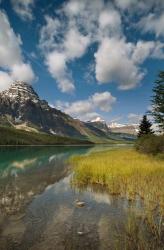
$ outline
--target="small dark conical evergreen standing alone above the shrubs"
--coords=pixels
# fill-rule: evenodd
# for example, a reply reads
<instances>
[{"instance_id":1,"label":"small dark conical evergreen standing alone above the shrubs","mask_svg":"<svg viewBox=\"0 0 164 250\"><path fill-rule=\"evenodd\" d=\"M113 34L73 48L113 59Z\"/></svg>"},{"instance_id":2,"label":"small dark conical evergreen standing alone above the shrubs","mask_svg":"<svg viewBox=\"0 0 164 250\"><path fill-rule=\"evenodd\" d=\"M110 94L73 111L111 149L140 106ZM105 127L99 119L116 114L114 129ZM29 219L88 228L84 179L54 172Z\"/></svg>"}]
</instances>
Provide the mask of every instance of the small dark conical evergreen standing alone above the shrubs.
<instances>
[{"instance_id":1,"label":"small dark conical evergreen standing alone above the shrubs","mask_svg":"<svg viewBox=\"0 0 164 250\"><path fill-rule=\"evenodd\" d=\"M153 134L151 126L152 126L151 122L147 119L147 116L144 115L139 125L138 137L141 137L143 135Z\"/></svg>"}]
</instances>

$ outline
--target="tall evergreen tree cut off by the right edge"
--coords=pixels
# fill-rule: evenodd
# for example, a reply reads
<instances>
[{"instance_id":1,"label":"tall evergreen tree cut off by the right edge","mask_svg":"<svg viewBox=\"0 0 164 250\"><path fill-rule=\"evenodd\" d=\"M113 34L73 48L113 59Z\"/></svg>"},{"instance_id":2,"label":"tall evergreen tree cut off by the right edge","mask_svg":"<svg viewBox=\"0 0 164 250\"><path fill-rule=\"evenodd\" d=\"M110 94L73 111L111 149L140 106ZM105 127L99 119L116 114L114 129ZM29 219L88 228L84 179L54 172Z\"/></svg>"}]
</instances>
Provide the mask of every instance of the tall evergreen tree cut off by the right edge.
<instances>
[{"instance_id":1,"label":"tall evergreen tree cut off by the right edge","mask_svg":"<svg viewBox=\"0 0 164 250\"><path fill-rule=\"evenodd\" d=\"M154 96L152 99L152 112L155 122L164 132L164 71L161 71L153 88Z\"/></svg>"}]
</instances>

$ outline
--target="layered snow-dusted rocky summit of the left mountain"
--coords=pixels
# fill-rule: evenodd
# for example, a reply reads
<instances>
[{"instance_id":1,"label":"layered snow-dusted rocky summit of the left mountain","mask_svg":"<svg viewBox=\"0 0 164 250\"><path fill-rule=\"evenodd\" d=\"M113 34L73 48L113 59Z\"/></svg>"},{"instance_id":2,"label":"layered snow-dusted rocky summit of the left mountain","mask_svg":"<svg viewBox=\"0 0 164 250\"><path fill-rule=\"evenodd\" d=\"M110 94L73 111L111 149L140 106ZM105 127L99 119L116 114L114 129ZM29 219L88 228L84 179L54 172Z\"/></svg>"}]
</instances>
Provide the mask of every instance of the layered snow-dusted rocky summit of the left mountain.
<instances>
[{"instance_id":1,"label":"layered snow-dusted rocky summit of the left mountain","mask_svg":"<svg viewBox=\"0 0 164 250\"><path fill-rule=\"evenodd\" d=\"M10 100L19 102L24 102L29 99L33 102L39 101L39 97L32 86L23 81L13 82L10 88L3 91L1 94L2 96L6 96L7 98L9 98Z\"/></svg>"}]
</instances>

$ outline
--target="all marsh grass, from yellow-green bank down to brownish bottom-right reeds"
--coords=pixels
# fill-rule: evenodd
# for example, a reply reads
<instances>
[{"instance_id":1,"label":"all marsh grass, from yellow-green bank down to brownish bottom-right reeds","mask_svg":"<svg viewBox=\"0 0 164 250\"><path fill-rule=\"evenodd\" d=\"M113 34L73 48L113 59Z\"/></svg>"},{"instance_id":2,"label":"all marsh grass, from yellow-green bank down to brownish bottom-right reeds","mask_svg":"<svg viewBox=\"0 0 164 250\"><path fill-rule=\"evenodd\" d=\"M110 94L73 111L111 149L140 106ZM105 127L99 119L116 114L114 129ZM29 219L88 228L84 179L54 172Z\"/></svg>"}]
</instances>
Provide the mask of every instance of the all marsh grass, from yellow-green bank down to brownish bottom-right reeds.
<instances>
[{"instance_id":1,"label":"all marsh grass, from yellow-green bank down to brownish bottom-right reeds","mask_svg":"<svg viewBox=\"0 0 164 250\"><path fill-rule=\"evenodd\" d=\"M144 155L134 149L113 149L74 156L72 184L104 186L111 195L139 199L142 214L130 213L125 224L125 249L163 249L164 158ZM133 217L133 218L132 218ZM142 233L143 232L143 233ZM123 232L120 234L123 236ZM159 248L157 248L159 246Z\"/></svg>"}]
</instances>

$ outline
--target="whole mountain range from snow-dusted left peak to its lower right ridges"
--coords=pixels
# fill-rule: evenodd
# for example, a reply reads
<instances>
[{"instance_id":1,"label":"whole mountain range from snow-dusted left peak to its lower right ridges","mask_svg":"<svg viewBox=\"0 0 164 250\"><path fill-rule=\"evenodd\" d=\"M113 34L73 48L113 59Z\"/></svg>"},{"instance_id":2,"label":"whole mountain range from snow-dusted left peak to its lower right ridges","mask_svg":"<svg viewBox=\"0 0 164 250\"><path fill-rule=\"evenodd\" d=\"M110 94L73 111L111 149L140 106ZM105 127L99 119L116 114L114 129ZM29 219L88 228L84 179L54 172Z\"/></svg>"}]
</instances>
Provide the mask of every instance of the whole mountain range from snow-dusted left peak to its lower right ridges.
<instances>
[{"instance_id":1,"label":"whole mountain range from snow-dusted left peak to its lower right ridges","mask_svg":"<svg viewBox=\"0 0 164 250\"><path fill-rule=\"evenodd\" d=\"M82 122L40 100L32 86L15 81L0 93L0 125L28 132L89 139L93 142L123 140L113 137L105 121Z\"/></svg>"}]
</instances>

